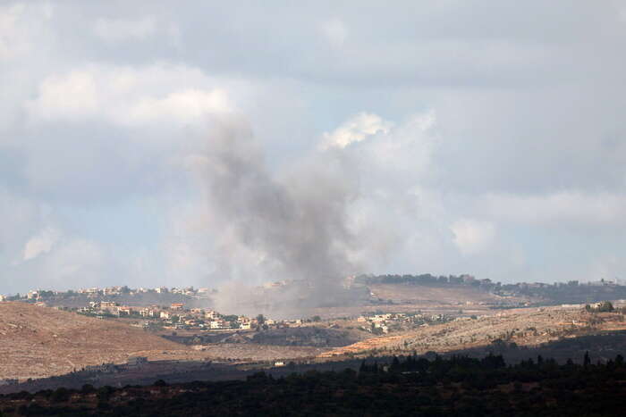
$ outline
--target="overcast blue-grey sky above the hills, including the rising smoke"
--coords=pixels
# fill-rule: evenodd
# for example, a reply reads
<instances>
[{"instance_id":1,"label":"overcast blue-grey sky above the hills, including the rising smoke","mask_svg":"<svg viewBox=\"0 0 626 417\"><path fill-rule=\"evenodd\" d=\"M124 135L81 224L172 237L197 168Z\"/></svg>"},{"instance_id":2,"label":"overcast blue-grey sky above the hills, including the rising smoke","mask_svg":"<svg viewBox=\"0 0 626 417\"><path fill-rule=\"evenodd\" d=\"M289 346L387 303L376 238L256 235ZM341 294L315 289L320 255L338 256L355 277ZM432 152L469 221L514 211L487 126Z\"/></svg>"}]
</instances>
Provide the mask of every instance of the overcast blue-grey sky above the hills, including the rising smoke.
<instances>
[{"instance_id":1,"label":"overcast blue-grey sky above the hills, including the rising smoke","mask_svg":"<svg viewBox=\"0 0 626 417\"><path fill-rule=\"evenodd\" d=\"M623 278L625 4L308 3L0 1L0 294Z\"/></svg>"}]
</instances>

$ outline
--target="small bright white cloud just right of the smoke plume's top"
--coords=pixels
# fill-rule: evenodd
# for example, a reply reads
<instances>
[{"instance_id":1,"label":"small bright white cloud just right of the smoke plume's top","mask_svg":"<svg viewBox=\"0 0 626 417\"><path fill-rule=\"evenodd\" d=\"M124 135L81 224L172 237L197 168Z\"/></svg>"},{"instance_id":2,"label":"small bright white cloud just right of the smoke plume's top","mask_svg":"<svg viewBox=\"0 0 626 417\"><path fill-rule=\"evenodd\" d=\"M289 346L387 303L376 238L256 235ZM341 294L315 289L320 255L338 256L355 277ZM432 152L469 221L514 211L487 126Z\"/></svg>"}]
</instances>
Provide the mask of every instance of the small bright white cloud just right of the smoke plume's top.
<instances>
[{"instance_id":1,"label":"small bright white cloud just right of the smoke plume's top","mask_svg":"<svg viewBox=\"0 0 626 417\"><path fill-rule=\"evenodd\" d=\"M322 148L346 147L351 143L360 142L368 136L376 135L378 132L386 133L392 124L383 120L380 116L372 113L359 113L334 129L332 132L324 133Z\"/></svg>"}]
</instances>

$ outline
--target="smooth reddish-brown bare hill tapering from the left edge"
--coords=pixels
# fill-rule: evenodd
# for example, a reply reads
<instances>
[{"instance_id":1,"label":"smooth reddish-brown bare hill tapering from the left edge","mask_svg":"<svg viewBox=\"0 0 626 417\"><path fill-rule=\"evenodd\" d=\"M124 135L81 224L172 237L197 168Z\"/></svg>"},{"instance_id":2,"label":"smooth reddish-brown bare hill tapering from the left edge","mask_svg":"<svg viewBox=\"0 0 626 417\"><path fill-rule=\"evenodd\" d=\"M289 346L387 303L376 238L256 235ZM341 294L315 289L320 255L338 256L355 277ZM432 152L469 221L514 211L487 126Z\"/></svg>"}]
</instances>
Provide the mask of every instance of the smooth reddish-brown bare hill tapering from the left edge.
<instances>
[{"instance_id":1,"label":"smooth reddish-brown bare hill tapering from the left edge","mask_svg":"<svg viewBox=\"0 0 626 417\"><path fill-rule=\"evenodd\" d=\"M86 365L124 363L140 351L186 349L116 321L0 303L0 379L47 377Z\"/></svg>"}]
</instances>

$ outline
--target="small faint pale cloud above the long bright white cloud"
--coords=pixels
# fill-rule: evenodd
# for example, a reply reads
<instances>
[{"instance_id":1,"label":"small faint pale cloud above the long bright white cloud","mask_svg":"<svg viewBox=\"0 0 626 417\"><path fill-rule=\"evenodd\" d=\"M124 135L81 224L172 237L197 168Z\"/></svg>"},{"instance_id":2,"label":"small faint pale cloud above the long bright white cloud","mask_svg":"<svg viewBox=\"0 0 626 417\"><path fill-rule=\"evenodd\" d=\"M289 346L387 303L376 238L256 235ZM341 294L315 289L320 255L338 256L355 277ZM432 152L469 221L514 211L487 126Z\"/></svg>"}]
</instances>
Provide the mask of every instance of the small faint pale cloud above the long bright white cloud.
<instances>
[{"instance_id":1,"label":"small faint pale cloud above the long bright white cloud","mask_svg":"<svg viewBox=\"0 0 626 417\"><path fill-rule=\"evenodd\" d=\"M100 18L93 26L98 38L106 42L142 40L157 32L157 19L146 16L137 20Z\"/></svg>"}]
</instances>

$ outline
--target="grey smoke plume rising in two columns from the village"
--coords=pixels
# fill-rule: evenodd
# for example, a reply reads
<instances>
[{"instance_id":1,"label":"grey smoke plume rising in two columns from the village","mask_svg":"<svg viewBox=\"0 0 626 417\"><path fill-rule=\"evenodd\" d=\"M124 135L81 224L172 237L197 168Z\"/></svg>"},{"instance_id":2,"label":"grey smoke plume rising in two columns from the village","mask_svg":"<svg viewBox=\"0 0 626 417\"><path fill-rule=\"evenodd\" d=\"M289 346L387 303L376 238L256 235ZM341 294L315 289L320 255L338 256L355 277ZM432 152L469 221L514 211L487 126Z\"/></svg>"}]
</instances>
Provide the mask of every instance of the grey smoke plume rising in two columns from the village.
<instances>
[{"instance_id":1,"label":"grey smoke plume rising in two columns from the village","mask_svg":"<svg viewBox=\"0 0 626 417\"><path fill-rule=\"evenodd\" d=\"M281 174L268 169L250 129L223 121L195 158L207 190L214 279L228 282L216 306L266 312L338 303L343 279L360 271L349 207L358 179L341 150L316 152ZM254 288L283 280L281 288Z\"/></svg>"}]
</instances>

